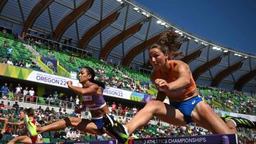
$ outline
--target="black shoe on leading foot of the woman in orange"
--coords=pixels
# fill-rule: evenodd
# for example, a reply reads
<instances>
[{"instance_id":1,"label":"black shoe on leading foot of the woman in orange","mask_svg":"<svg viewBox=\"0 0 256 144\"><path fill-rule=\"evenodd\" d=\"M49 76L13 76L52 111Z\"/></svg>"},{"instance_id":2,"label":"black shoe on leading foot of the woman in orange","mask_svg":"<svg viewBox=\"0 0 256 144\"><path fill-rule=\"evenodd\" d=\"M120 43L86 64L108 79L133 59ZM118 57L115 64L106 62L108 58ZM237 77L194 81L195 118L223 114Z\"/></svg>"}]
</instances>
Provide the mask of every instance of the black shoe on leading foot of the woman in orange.
<instances>
[{"instance_id":1,"label":"black shoe on leading foot of the woman in orange","mask_svg":"<svg viewBox=\"0 0 256 144\"><path fill-rule=\"evenodd\" d=\"M114 120L114 117L110 114L105 114L103 116L103 126L112 135L114 138L117 138L119 143L125 143L128 138L129 134L125 131L124 126Z\"/></svg>"}]
</instances>

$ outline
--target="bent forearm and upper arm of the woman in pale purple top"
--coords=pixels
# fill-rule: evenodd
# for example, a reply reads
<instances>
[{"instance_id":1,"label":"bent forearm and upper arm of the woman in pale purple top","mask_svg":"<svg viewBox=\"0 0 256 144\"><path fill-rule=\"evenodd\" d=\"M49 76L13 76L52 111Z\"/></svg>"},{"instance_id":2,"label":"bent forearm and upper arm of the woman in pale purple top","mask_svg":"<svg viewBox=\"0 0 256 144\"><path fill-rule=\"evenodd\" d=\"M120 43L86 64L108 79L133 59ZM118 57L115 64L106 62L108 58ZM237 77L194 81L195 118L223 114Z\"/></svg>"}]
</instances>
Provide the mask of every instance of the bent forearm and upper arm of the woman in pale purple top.
<instances>
[{"instance_id":1,"label":"bent forearm and upper arm of the woman in pale purple top","mask_svg":"<svg viewBox=\"0 0 256 144\"><path fill-rule=\"evenodd\" d=\"M88 87L86 89L81 88L81 87L75 87L72 85L73 82L68 81L68 88L71 89L73 92L75 92L78 95L95 95L95 93L97 92L97 89L99 89L99 87L95 84L92 85L92 87Z\"/></svg>"}]
</instances>

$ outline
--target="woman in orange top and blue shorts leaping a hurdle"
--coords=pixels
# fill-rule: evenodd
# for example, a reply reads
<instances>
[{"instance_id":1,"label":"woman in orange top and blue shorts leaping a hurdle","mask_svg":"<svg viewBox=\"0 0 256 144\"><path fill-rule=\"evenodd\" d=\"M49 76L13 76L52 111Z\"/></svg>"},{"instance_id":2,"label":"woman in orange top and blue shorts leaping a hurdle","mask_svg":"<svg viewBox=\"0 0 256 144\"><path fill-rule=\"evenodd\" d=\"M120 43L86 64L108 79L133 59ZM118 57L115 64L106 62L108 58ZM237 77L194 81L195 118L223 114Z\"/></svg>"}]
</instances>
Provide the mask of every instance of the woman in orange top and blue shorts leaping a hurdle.
<instances>
[{"instance_id":1,"label":"woman in orange top and blue shorts leaping a hurdle","mask_svg":"<svg viewBox=\"0 0 256 144\"><path fill-rule=\"evenodd\" d=\"M176 45L179 45L177 38L178 35L174 32L164 32L160 40L149 48L149 62L154 67L150 78L158 89L156 101L147 102L146 106L125 126L120 125L107 114L103 116L106 130L112 131L119 143L124 143L132 132L144 126L154 116L177 126L196 122L212 133L237 133L235 125L238 123L235 120L225 123L198 95L188 65L180 60L172 60L174 55L179 54L176 52L178 50ZM170 104L163 103L166 96ZM241 119L254 126L252 121Z\"/></svg>"}]
</instances>

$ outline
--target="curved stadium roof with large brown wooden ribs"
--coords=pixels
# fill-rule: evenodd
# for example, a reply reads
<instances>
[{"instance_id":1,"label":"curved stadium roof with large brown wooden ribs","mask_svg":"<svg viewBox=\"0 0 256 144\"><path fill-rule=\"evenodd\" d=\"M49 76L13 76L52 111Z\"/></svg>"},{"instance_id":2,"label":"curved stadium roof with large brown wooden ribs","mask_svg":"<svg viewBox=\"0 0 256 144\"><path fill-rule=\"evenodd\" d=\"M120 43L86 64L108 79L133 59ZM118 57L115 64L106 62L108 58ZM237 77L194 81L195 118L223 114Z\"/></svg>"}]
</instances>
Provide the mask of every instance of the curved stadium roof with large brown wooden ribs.
<instances>
[{"instance_id":1,"label":"curved stadium roof with large brown wooden ribs","mask_svg":"<svg viewBox=\"0 0 256 144\"><path fill-rule=\"evenodd\" d=\"M200 38L128 0L16 0L0 2L0 26L72 38L78 48L123 65L149 66L147 48L159 34L176 31L198 84L255 92L256 55Z\"/></svg>"}]
</instances>

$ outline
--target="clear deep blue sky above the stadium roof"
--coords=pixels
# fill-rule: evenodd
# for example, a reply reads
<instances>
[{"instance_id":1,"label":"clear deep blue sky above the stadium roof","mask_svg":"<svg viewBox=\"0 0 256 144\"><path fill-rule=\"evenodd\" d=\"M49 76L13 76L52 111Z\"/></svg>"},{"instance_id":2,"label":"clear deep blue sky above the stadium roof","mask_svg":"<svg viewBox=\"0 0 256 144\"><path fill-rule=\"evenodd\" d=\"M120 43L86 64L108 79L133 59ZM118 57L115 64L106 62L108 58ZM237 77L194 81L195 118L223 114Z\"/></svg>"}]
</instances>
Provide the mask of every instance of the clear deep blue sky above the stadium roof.
<instances>
[{"instance_id":1,"label":"clear deep blue sky above the stadium roof","mask_svg":"<svg viewBox=\"0 0 256 144\"><path fill-rule=\"evenodd\" d=\"M256 0L135 0L201 38L256 54Z\"/></svg>"}]
</instances>

